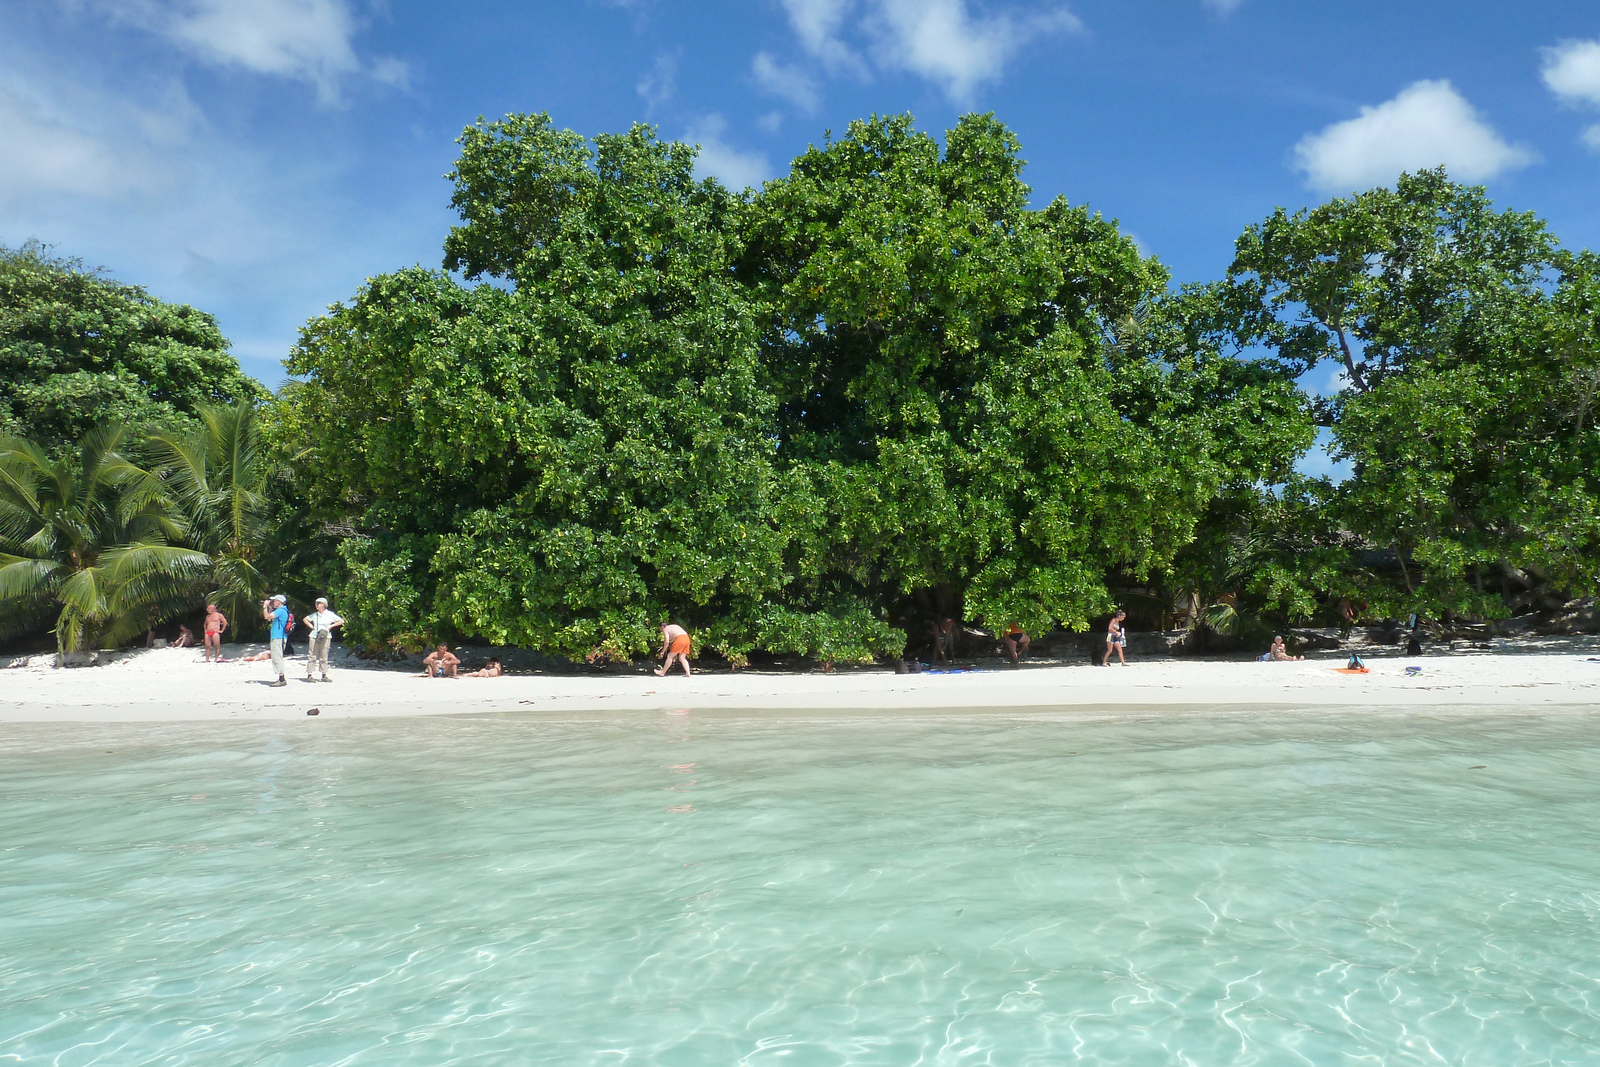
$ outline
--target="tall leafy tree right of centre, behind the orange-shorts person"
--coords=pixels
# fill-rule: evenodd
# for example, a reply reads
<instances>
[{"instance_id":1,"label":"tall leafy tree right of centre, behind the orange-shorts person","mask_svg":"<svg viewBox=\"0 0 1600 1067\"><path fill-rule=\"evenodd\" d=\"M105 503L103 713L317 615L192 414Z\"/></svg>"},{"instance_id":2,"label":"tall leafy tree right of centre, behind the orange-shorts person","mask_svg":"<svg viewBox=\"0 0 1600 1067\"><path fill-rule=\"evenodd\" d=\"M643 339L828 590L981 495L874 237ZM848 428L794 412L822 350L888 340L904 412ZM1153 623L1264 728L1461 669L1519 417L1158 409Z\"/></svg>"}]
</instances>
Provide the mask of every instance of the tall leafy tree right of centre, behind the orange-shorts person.
<instances>
[{"instance_id":1,"label":"tall leafy tree right of centre, behind the orange-shorts person","mask_svg":"<svg viewBox=\"0 0 1600 1067\"><path fill-rule=\"evenodd\" d=\"M795 569L907 611L1082 629L1168 566L1211 498L1309 443L1285 374L1187 342L1117 226L1040 210L968 115L853 123L750 206Z\"/></svg>"}]
</instances>

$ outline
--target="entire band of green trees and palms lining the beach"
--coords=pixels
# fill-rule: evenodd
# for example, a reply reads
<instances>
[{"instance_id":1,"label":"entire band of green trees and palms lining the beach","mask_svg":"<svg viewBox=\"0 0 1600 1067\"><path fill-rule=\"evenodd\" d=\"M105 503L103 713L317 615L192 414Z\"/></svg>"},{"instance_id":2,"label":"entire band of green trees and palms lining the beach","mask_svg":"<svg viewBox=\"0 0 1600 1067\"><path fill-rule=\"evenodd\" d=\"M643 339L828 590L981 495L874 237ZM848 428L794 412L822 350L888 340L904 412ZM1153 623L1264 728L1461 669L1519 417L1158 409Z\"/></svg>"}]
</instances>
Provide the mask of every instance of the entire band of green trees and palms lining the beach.
<instances>
[{"instance_id":1,"label":"entire band of green trees and palms lining the beach","mask_svg":"<svg viewBox=\"0 0 1600 1067\"><path fill-rule=\"evenodd\" d=\"M0 624L270 581L370 648L624 659L670 617L739 664L1600 592L1600 258L1432 171L1173 290L1019 152L872 118L734 194L648 126L480 122L445 269L312 320L259 411L208 317L5 253ZM1318 430L1347 477L1296 470Z\"/></svg>"}]
</instances>

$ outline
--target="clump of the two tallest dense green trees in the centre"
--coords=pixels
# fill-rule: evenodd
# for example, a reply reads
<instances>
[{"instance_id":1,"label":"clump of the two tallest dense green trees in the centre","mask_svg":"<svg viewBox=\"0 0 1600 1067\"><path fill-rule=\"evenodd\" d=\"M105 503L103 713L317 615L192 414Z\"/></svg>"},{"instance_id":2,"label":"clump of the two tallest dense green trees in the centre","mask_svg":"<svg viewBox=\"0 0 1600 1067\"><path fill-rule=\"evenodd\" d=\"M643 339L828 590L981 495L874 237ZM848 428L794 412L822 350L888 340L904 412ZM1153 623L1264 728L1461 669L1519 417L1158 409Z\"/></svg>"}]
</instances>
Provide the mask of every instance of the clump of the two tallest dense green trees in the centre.
<instances>
[{"instance_id":1,"label":"clump of the two tallest dense green trees in the centre","mask_svg":"<svg viewBox=\"0 0 1600 1067\"><path fill-rule=\"evenodd\" d=\"M352 633L622 656L898 651L933 608L1085 625L1310 422L1270 368L1157 352L1166 275L1027 206L1011 134L854 123L752 197L643 126L462 136L446 267L312 323L283 430Z\"/></svg>"}]
</instances>

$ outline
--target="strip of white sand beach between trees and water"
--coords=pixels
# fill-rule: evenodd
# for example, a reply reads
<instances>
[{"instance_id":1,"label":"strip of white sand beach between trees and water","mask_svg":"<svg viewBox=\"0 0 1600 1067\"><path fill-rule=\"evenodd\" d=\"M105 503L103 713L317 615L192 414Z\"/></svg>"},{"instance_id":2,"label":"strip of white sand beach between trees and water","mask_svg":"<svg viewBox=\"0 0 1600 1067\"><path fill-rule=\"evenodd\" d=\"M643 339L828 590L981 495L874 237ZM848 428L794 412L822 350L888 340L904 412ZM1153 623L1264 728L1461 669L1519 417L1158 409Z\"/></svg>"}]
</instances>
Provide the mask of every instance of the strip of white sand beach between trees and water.
<instances>
[{"instance_id":1,"label":"strip of white sand beach between trees and water","mask_svg":"<svg viewBox=\"0 0 1600 1067\"><path fill-rule=\"evenodd\" d=\"M677 709L954 710L954 709L1600 709L1600 638L1549 638L1504 651L1368 654L1365 675L1339 673L1338 653L1304 662L1149 659L1011 667L979 662L958 673L886 669L730 673L715 661L693 678L650 673L523 673L430 680L397 665L336 654L333 683L306 683L304 659L274 689L270 664L206 664L192 648L125 653L98 667L56 670L50 657L0 670L0 721L160 721L603 712ZM1421 673L1411 677L1405 669Z\"/></svg>"}]
</instances>

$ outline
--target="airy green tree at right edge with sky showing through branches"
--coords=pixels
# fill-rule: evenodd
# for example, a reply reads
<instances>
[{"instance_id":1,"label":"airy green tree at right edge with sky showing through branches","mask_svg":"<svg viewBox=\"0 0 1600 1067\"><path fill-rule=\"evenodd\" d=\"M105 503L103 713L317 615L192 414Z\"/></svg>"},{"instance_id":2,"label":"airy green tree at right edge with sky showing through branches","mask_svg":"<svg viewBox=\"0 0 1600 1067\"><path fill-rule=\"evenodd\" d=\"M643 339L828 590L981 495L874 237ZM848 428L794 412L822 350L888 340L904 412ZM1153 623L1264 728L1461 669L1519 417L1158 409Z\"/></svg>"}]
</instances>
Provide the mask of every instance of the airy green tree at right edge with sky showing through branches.
<instances>
[{"instance_id":1,"label":"airy green tree at right edge with sky showing through branches","mask_svg":"<svg viewBox=\"0 0 1600 1067\"><path fill-rule=\"evenodd\" d=\"M1514 579L1597 589L1595 286L1594 256L1443 171L1245 232L1222 294L1238 342L1341 371L1320 413L1352 464L1323 517L1346 566L1330 582L1318 553L1309 585L1432 616L1504 614Z\"/></svg>"}]
</instances>

